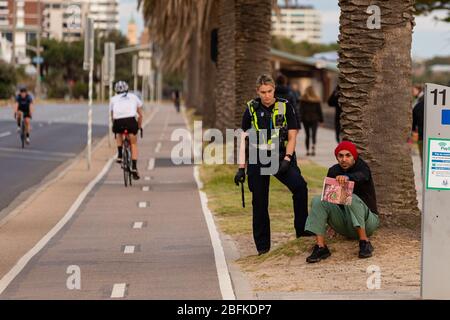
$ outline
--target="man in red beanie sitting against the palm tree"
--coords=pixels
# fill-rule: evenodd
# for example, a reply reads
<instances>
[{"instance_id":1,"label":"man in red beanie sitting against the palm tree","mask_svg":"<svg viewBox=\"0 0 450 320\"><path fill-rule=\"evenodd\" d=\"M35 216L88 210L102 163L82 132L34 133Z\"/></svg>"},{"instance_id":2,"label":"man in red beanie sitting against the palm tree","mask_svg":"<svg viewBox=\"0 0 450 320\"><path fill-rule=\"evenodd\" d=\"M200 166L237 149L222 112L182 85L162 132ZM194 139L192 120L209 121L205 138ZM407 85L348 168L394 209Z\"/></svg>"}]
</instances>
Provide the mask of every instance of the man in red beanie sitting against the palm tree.
<instances>
[{"instance_id":1,"label":"man in red beanie sitting against the palm tree","mask_svg":"<svg viewBox=\"0 0 450 320\"><path fill-rule=\"evenodd\" d=\"M333 204L321 201L319 196L312 200L305 230L316 234L317 244L306 259L308 263L319 262L331 255L324 238L327 224L343 236L359 239L359 258L369 258L373 252L368 237L378 228L379 218L370 168L350 141L342 141L334 154L338 163L328 170L327 177L335 178L341 185L355 182L352 203Z\"/></svg>"}]
</instances>

